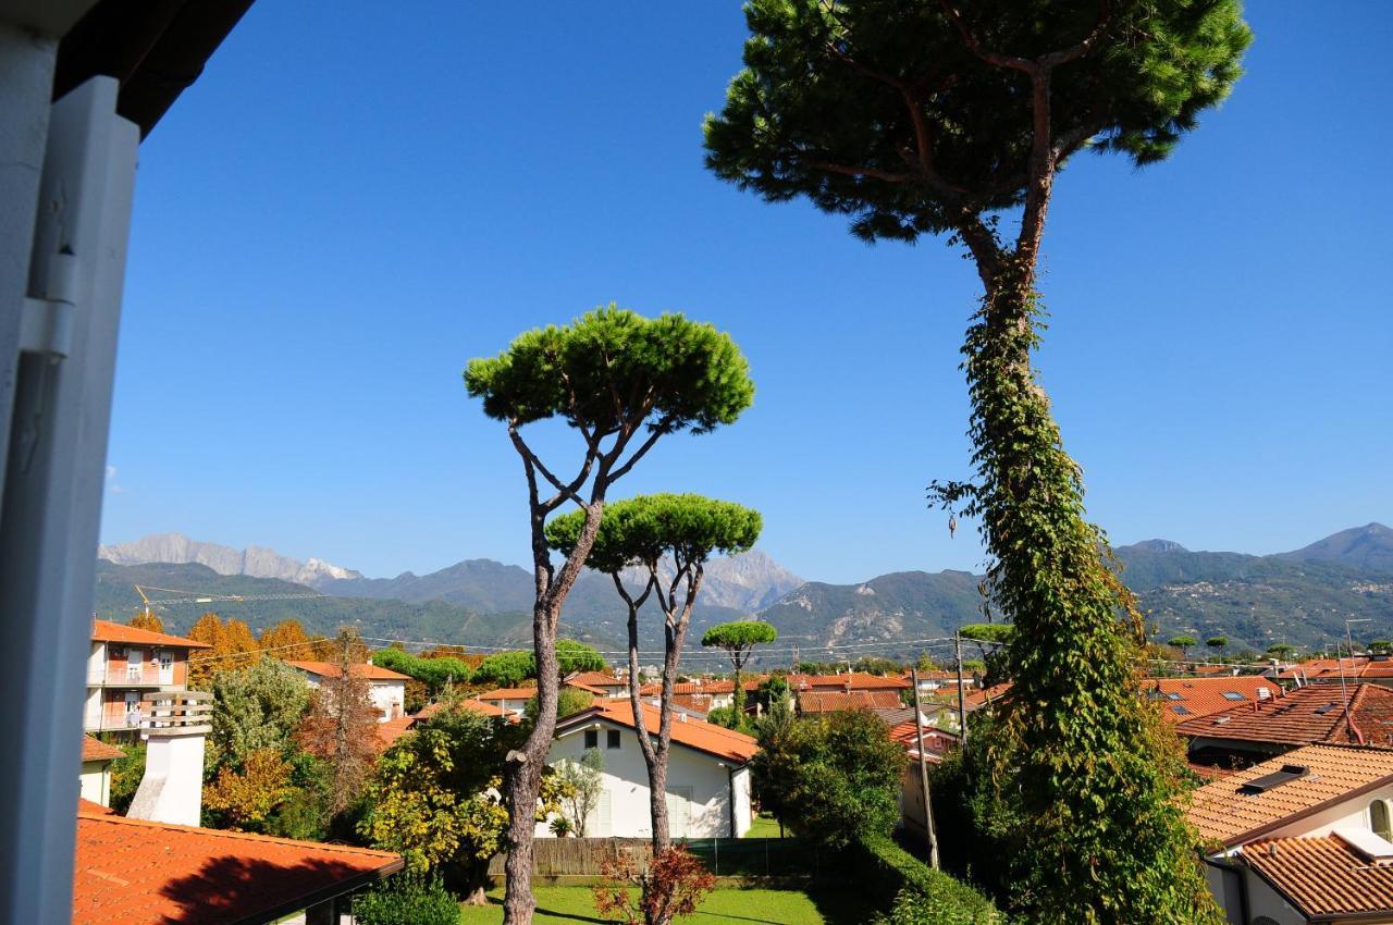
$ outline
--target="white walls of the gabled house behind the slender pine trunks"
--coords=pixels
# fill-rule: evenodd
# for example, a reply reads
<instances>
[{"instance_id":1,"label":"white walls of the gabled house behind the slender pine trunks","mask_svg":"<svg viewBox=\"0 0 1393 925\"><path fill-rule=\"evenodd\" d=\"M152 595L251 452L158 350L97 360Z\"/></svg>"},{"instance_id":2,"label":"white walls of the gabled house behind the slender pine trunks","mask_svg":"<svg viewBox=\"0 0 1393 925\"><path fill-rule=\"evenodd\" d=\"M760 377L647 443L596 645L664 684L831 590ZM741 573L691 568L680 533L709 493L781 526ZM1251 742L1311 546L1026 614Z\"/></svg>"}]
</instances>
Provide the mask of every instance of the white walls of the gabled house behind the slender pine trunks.
<instances>
[{"instance_id":1,"label":"white walls of the gabled house behind the slender pine trunks","mask_svg":"<svg viewBox=\"0 0 1393 925\"><path fill-rule=\"evenodd\" d=\"M599 733L605 755L600 807L586 825L591 837L646 839L653 834L649 811L648 765L632 729L596 720L588 729ZM607 748L607 730L620 730L620 747ZM584 729L568 730L554 743L546 763L579 761L585 754ZM733 786L734 784L734 786ZM724 839L730 836L731 790L736 801L736 833L749 830L749 770L731 775L731 762L673 743L667 755L669 826L674 839ZM546 823L538 823L538 837L550 837Z\"/></svg>"}]
</instances>

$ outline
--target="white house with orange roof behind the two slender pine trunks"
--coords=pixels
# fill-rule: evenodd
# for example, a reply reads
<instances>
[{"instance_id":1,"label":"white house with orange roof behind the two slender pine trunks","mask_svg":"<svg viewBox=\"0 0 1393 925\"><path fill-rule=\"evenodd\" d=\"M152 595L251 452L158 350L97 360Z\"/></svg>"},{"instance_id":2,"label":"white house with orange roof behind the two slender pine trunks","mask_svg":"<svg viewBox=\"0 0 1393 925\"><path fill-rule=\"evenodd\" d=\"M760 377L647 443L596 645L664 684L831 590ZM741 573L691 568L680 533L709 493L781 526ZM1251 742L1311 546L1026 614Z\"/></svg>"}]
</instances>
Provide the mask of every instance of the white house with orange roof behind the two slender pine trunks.
<instances>
[{"instance_id":1,"label":"white house with orange roof behind the two slender pine trunks","mask_svg":"<svg viewBox=\"0 0 1393 925\"><path fill-rule=\"evenodd\" d=\"M644 706L644 722L656 733L659 710ZM605 756L599 807L586 821L591 837L649 837L648 766L634 730L634 710L620 699L598 701L564 717L547 763L579 761L588 748ZM740 837L749 830L749 759L759 747L742 733L696 719L673 717L667 755L669 830L674 839ZM552 834L538 823L538 837Z\"/></svg>"}]
</instances>

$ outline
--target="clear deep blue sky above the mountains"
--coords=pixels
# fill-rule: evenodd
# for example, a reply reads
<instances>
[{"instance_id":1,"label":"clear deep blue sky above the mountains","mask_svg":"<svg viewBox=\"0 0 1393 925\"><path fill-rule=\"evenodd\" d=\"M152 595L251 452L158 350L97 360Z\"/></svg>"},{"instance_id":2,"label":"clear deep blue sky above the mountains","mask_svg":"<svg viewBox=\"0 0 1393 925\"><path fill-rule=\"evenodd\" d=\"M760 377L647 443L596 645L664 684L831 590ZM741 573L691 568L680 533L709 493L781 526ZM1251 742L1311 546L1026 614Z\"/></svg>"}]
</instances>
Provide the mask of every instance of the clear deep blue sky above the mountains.
<instances>
[{"instance_id":1,"label":"clear deep blue sky above the mountains","mask_svg":"<svg viewBox=\"0 0 1393 925\"><path fill-rule=\"evenodd\" d=\"M1393 6L1250 6L1229 103L1144 173L1077 162L1050 212L1041 364L1116 542L1393 522ZM142 146L106 542L525 561L521 468L460 372L617 301L729 330L758 387L617 495L756 506L809 578L979 566L924 504L968 472L976 279L703 170L736 3L383 10L262 0Z\"/></svg>"}]
</instances>

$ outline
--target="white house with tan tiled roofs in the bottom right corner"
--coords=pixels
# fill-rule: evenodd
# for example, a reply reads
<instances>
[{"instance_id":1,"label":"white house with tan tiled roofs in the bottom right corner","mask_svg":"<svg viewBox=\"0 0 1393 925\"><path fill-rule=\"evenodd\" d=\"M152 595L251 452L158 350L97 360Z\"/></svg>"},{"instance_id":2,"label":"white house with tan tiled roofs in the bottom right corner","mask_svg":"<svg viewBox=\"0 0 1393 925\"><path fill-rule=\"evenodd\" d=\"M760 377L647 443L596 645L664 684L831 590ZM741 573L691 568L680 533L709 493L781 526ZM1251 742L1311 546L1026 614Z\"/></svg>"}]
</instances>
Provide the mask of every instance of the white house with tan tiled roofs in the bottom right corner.
<instances>
[{"instance_id":1,"label":"white house with tan tiled roofs in the bottom right corner","mask_svg":"<svg viewBox=\"0 0 1393 925\"><path fill-rule=\"evenodd\" d=\"M1297 748L1194 793L1231 925L1393 924L1393 749Z\"/></svg>"}]
</instances>

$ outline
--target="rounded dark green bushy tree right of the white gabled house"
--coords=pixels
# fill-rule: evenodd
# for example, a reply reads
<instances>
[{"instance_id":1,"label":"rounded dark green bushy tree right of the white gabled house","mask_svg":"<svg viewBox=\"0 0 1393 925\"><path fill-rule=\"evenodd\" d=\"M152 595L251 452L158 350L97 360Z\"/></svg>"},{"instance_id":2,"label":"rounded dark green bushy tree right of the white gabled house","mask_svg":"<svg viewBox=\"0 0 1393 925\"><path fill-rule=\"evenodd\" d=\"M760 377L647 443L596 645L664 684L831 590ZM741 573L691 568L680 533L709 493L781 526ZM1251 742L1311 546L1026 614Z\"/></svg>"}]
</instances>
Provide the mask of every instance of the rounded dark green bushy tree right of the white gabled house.
<instances>
[{"instance_id":1,"label":"rounded dark green bushy tree right of the white gabled house","mask_svg":"<svg viewBox=\"0 0 1393 925\"><path fill-rule=\"evenodd\" d=\"M761 738L751 768L762 807L801 837L841 847L894 827L904 762L879 716L846 710Z\"/></svg>"}]
</instances>

